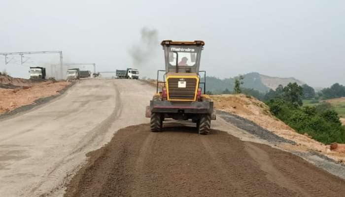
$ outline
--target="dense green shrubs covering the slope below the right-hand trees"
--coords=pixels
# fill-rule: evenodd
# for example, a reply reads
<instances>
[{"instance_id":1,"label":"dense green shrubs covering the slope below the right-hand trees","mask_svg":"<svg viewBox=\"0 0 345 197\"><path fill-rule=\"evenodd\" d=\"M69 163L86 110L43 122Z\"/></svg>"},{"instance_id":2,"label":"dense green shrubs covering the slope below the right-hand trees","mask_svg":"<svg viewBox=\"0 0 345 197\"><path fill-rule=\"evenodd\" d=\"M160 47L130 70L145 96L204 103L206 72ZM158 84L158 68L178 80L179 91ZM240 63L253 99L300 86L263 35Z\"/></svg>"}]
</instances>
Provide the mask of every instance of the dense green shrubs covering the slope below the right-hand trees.
<instances>
[{"instance_id":1,"label":"dense green shrubs covering the slope below the right-hand trees","mask_svg":"<svg viewBox=\"0 0 345 197\"><path fill-rule=\"evenodd\" d=\"M267 104L272 114L297 132L308 133L325 144L345 143L345 127L329 103L299 107L282 99L271 99Z\"/></svg>"}]
</instances>

